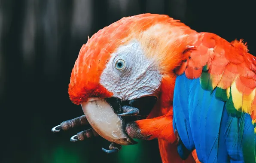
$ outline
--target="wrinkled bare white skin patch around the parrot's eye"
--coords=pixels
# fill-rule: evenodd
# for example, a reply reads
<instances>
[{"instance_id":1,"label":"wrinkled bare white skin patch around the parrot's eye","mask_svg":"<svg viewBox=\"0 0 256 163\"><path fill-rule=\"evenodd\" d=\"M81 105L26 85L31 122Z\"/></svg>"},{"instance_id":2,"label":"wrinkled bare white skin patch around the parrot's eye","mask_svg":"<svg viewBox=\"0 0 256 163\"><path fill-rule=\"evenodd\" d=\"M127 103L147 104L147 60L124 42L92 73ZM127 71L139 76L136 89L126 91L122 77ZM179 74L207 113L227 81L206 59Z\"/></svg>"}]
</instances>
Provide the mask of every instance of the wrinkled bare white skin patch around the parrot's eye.
<instances>
[{"instance_id":1,"label":"wrinkled bare white skin patch around the parrot's eye","mask_svg":"<svg viewBox=\"0 0 256 163\"><path fill-rule=\"evenodd\" d=\"M118 60L125 62L119 70ZM157 96L162 75L153 60L146 58L137 40L123 45L111 54L106 68L101 74L101 85L121 100L134 100L145 96Z\"/></svg>"}]
</instances>

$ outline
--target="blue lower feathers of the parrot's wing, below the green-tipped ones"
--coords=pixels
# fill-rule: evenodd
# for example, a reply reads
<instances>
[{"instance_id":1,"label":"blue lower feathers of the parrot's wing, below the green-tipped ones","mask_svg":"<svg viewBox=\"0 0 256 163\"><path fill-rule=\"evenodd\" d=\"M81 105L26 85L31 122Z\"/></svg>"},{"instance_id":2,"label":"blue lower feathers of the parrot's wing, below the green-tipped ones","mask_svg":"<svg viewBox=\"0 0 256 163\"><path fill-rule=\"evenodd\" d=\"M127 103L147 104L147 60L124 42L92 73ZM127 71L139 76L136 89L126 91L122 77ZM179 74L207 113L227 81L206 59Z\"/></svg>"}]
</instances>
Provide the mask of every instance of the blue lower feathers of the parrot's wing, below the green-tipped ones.
<instances>
[{"instance_id":1,"label":"blue lower feathers of the parrot's wing, below the green-tipped ones","mask_svg":"<svg viewBox=\"0 0 256 163\"><path fill-rule=\"evenodd\" d=\"M183 90L188 88L189 91ZM199 161L204 163L255 163L256 134L251 116L247 113L241 113L239 117L229 114L227 102L217 98L216 93L217 89L204 90L200 78L191 80L185 74L176 78L174 123L184 147L194 144ZM180 100L179 97L188 100ZM184 118L184 112L189 113L186 124L177 119L178 115ZM181 127L179 124L182 124ZM187 128L191 129L191 135ZM193 140L193 143L188 139ZM178 146L182 157L187 150L181 148L183 144Z\"/></svg>"}]
</instances>

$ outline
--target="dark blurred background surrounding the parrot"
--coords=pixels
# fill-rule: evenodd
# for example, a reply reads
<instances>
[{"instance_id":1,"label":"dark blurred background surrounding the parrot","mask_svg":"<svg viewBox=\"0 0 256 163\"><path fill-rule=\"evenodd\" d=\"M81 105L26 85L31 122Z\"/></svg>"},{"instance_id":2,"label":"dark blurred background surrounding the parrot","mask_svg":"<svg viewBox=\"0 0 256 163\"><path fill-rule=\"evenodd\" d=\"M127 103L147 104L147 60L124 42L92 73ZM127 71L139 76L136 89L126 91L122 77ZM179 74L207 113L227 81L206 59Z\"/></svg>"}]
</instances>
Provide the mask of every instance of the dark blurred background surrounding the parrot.
<instances>
[{"instance_id":1,"label":"dark blurred background surrounding the parrot","mask_svg":"<svg viewBox=\"0 0 256 163\"><path fill-rule=\"evenodd\" d=\"M70 142L84 128L52 133L83 114L69 100L82 44L124 16L167 14L198 32L243 38L256 54L256 0L0 0L1 163L158 163L157 140L107 155L103 138Z\"/></svg>"}]
</instances>

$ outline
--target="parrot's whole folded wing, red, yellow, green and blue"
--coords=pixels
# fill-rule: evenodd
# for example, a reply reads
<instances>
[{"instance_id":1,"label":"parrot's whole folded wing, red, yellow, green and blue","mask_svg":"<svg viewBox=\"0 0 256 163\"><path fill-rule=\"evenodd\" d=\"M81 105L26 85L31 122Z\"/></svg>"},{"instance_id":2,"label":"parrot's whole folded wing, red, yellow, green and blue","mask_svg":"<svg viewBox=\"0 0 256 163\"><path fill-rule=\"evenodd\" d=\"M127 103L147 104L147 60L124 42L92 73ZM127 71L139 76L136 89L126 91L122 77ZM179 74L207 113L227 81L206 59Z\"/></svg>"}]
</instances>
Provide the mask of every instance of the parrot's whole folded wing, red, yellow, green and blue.
<instances>
[{"instance_id":1,"label":"parrot's whole folded wing, red, yellow, green and blue","mask_svg":"<svg viewBox=\"0 0 256 163\"><path fill-rule=\"evenodd\" d=\"M256 57L213 33L176 69L174 129L201 162L256 162ZM177 112L177 110L179 110Z\"/></svg>"}]
</instances>

